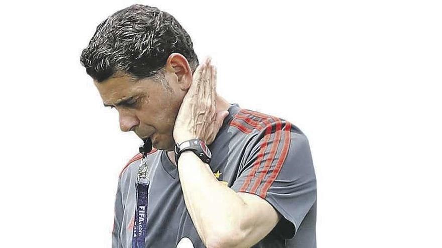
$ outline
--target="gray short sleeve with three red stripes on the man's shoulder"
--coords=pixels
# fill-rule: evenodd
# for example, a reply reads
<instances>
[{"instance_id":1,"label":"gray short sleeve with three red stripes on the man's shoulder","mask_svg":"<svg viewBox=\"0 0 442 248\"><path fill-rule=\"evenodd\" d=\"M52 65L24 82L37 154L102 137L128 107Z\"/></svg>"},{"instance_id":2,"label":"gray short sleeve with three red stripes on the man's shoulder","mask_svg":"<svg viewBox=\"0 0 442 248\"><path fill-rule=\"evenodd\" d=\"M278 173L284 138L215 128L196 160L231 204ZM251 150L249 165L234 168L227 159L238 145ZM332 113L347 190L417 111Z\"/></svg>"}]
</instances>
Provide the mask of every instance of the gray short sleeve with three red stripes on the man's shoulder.
<instances>
[{"instance_id":1,"label":"gray short sleeve with three red stripes on the man's shoulder","mask_svg":"<svg viewBox=\"0 0 442 248\"><path fill-rule=\"evenodd\" d=\"M292 238L316 202L316 176L307 137L290 122L267 125L251 142L232 185L267 200L283 218L277 228Z\"/></svg>"}]
</instances>

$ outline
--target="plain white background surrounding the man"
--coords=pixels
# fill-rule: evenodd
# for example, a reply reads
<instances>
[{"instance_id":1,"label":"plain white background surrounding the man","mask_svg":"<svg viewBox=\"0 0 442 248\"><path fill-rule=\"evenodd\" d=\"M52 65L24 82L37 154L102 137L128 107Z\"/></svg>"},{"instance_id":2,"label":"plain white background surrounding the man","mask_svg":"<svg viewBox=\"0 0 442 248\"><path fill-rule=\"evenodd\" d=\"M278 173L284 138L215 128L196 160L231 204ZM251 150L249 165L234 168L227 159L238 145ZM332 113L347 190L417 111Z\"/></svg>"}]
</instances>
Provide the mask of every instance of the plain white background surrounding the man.
<instances>
[{"instance_id":1,"label":"plain white background surrounding the man","mask_svg":"<svg viewBox=\"0 0 442 248\"><path fill-rule=\"evenodd\" d=\"M131 1L3 3L1 247L109 247L140 141L81 67ZM442 247L439 1L140 1L175 16L218 92L310 141L318 247Z\"/></svg>"}]
</instances>

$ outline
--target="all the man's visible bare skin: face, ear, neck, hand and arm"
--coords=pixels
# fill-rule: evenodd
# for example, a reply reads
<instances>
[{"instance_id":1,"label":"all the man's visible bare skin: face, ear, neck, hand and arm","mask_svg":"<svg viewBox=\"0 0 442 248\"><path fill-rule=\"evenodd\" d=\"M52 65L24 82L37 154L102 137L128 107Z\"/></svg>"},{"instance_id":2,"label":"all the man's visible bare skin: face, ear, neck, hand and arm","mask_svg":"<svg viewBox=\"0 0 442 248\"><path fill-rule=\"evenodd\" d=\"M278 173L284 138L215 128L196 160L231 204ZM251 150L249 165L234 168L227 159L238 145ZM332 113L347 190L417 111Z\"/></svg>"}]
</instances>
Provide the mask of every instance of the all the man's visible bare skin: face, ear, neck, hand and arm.
<instances>
[{"instance_id":1,"label":"all the man's visible bare skin: face, ear, neck, hand and arm","mask_svg":"<svg viewBox=\"0 0 442 248\"><path fill-rule=\"evenodd\" d=\"M216 94L216 69L210 59L192 74L185 57L174 53L165 69L169 87L153 79L134 82L123 72L94 83L104 104L117 109L122 131L151 137L153 147L168 151L176 164L175 142L192 138L213 142L230 104ZM140 97L130 102L135 105L117 104L136 95ZM179 165L184 201L206 247L251 247L278 223L280 215L266 200L220 183L193 152L183 152Z\"/></svg>"}]
</instances>

